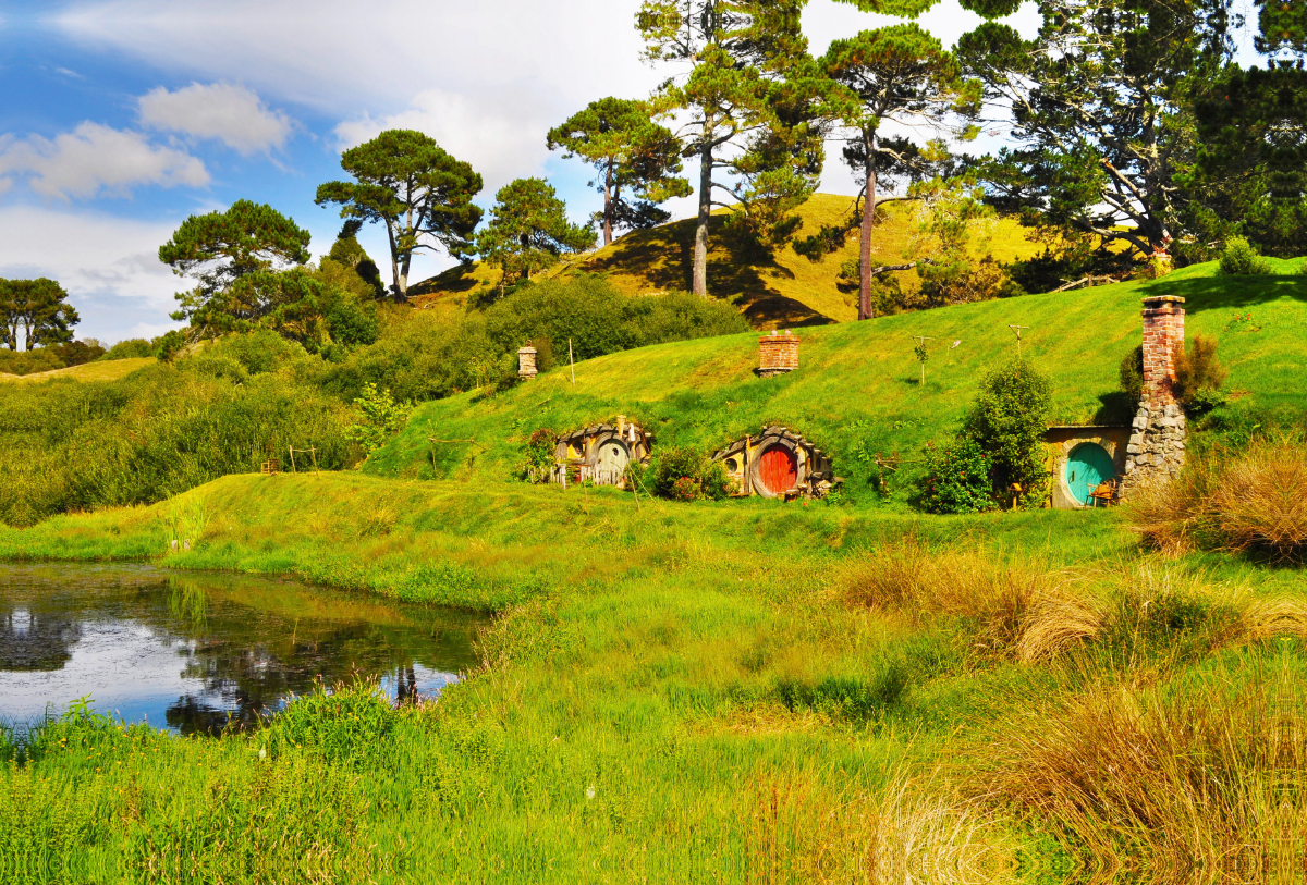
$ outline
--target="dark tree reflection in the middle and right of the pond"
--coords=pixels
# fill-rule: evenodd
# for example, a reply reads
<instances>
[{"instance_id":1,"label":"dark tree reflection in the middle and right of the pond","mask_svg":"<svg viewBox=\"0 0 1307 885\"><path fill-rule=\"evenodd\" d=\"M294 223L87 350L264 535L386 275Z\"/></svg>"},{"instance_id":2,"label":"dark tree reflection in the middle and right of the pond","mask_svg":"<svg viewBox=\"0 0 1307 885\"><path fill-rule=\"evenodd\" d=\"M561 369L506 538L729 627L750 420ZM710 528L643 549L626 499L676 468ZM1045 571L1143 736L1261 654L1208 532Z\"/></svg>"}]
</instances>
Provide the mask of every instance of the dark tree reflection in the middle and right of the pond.
<instances>
[{"instance_id":1,"label":"dark tree reflection in the middle and right of the pond","mask_svg":"<svg viewBox=\"0 0 1307 885\"><path fill-rule=\"evenodd\" d=\"M252 726L282 698L311 692L318 680L335 685L397 674L399 700L417 694L412 651L388 630L349 625L278 644L216 637L213 628L220 624L212 616L208 625L210 636L195 645L182 670L184 679L197 680L201 688L167 709L167 723L184 734Z\"/></svg>"}]
</instances>

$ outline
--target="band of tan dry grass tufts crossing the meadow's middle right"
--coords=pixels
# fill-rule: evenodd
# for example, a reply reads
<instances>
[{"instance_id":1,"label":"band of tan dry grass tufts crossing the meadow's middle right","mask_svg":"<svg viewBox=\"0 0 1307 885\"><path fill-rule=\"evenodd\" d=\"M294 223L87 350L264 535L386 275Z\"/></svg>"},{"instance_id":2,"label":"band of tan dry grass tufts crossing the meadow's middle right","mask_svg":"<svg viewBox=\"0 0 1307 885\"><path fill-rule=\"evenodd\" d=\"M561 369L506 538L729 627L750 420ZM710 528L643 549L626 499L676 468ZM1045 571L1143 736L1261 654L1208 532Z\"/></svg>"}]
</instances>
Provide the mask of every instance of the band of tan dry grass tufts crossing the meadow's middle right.
<instances>
[{"instance_id":1,"label":"band of tan dry grass tufts crossing the meadow's middle right","mask_svg":"<svg viewBox=\"0 0 1307 885\"><path fill-rule=\"evenodd\" d=\"M1274 636L1307 637L1307 603L1157 563L1052 569L979 547L932 548L908 535L850 567L847 602L910 620L958 617L980 654L1022 663L1110 646L1129 658L1178 640L1213 651Z\"/></svg>"}]
</instances>

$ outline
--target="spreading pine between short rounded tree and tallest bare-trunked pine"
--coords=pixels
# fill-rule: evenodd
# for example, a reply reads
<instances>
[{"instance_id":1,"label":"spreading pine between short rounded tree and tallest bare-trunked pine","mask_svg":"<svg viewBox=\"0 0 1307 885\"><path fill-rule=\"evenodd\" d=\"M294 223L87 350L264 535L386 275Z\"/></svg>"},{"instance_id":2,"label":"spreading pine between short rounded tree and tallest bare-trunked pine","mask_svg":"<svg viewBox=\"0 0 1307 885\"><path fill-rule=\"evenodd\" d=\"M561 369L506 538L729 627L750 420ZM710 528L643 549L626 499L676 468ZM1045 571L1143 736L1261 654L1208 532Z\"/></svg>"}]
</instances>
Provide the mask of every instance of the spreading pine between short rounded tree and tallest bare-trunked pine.
<instances>
[{"instance_id":1,"label":"spreading pine between short rounded tree and tallest bare-trunked pine","mask_svg":"<svg viewBox=\"0 0 1307 885\"><path fill-rule=\"evenodd\" d=\"M601 98L549 131L549 150L562 148L565 159L580 157L599 172L589 185L604 194L604 210L595 215L604 245L616 228L661 225L670 214L656 204L690 193L690 183L677 178L681 142L651 115L644 102Z\"/></svg>"}]
</instances>

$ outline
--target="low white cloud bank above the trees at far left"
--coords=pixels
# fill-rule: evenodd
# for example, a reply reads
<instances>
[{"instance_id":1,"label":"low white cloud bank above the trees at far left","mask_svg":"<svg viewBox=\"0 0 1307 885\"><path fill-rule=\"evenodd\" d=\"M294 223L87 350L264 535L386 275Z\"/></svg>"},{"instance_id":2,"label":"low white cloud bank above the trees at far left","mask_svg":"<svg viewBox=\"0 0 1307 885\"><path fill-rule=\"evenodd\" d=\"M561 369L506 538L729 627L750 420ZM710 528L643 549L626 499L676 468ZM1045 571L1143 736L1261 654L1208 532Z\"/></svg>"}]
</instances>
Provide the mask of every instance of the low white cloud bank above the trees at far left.
<instances>
[{"instance_id":1,"label":"low white cloud bank above the trees at far left","mask_svg":"<svg viewBox=\"0 0 1307 885\"><path fill-rule=\"evenodd\" d=\"M88 211L0 206L0 277L50 277L81 313L80 338L153 337L169 326L173 294L187 281L158 260L175 222L145 222Z\"/></svg>"}]
</instances>

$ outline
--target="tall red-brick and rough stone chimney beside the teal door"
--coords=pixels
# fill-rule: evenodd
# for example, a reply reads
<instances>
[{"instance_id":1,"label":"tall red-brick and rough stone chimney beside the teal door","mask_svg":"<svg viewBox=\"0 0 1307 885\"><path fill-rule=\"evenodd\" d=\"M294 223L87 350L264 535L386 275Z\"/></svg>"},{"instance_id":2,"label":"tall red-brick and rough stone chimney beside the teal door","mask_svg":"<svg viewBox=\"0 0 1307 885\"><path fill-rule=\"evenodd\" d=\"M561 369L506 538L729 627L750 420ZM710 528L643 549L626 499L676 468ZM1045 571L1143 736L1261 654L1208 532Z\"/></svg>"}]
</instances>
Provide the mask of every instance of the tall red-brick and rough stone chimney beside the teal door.
<instances>
[{"instance_id":1,"label":"tall red-brick and rough stone chimney beside the teal door","mask_svg":"<svg viewBox=\"0 0 1307 885\"><path fill-rule=\"evenodd\" d=\"M1144 397L1125 450L1123 491L1167 482L1184 466L1184 410L1175 401L1175 352L1184 347L1184 299L1144 299Z\"/></svg>"}]
</instances>

